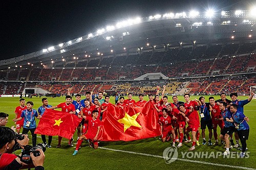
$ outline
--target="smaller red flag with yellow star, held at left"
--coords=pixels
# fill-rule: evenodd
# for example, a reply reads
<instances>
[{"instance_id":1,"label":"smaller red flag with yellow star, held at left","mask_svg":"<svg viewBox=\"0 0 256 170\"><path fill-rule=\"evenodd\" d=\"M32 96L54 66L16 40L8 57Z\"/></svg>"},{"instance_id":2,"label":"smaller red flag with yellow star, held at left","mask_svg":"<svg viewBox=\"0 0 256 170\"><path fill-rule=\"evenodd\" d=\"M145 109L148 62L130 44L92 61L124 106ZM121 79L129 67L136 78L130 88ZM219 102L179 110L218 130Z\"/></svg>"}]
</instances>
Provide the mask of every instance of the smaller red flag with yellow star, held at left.
<instances>
[{"instance_id":1,"label":"smaller red flag with yellow star, held at left","mask_svg":"<svg viewBox=\"0 0 256 170\"><path fill-rule=\"evenodd\" d=\"M75 114L46 109L40 118L35 133L50 136L62 136L71 139L80 124L81 118Z\"/></svg>"}]
</instances>

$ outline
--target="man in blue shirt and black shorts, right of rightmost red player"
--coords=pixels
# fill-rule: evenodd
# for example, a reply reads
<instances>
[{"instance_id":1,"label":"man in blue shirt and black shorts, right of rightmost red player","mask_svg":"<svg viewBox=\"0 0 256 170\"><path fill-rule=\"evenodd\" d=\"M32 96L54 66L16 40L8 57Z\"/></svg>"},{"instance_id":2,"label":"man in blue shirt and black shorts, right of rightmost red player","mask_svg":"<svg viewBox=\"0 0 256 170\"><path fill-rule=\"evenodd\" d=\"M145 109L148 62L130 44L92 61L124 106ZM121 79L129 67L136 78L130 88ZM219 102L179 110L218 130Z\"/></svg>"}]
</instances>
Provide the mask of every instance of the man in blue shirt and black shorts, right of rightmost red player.
<instances>
[{"instance_id":1,"label":"man in blue shirt and black shorts, right of rightmost red player","mask_svg":"<svg viewBox=\"0 0 256 170\"><path fill-rule=\"evenodd\" d=\"M221 131L220 138L226 142L226 151L222 153L222 155L228 155L229 154L229 148L232 149L232 145L229 144L229 136L234 132L234 124L231 123L229 120L232 119L232 113L227 110L227 103L226 102L220 102L219 104L220 110L221 110L221 118L224 120L224 128Z\"/></svg>"}]
</instances>

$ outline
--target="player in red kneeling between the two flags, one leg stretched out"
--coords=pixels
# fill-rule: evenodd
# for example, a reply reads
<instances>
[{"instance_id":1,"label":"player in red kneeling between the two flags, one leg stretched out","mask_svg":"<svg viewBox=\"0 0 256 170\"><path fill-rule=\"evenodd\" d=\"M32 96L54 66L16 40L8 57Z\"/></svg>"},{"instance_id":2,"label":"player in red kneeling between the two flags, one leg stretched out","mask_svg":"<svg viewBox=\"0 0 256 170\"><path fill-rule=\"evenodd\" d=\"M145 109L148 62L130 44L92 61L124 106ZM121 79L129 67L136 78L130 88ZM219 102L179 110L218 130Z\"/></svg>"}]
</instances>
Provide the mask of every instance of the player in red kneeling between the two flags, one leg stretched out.
<instances>
[{"instance_id":1,"label":"player in red kneeling between the two flags, one leg stretched out","mask_svg":"<svg viewBox=\"0 0 256 170\"><path fill-rule=\"evenodd\" d=\"M82 115L82 118L84 118L85 120L88 120L88 131L87 131L86 134L81 135L79 137L79 139L77 140L76 150L73 153L73 155L77 154L78 149L79 149L83 139L86 139L86 140L89 139L90 147L91 147L91 144L92 144L94 149L98 148L97 137L98 137L99 130L100 130L100 127L101 127L101 122L98 119L98 116L99 116L98 111L94 110L93 111L93 117L90 117L90 116L84 116L83 113L82 113L82 110L81 110L81 115Z\"/></svg>"}]
</instances>

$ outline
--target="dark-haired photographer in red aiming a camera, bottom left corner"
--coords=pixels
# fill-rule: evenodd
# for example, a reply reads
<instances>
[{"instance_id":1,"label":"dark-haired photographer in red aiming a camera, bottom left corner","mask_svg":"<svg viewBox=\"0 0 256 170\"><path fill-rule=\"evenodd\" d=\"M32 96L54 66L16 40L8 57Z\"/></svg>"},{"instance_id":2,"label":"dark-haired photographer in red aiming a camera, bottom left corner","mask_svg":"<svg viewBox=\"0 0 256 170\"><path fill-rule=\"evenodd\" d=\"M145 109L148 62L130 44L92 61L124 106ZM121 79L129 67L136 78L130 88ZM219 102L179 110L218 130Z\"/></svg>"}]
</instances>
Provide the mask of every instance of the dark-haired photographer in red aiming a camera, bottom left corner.
<instances>
[{"instance_id":1,"label":"dark-haired photographer in red aiming a camera, bottom left corner","mask_svg":"<svg viewBox=\"0 0 256 170\"><path fill-rule=\"evenodd\" d=\"M28 135L23 135L23 140L15 139L15 132L7 127L0 127L0 170L2 169L19 169L26 168L27 164L20 161L20 158L15 154L11 154L14 151L15 140L20 148L24 149L24 145L27 145L29 142ZM40 155L34 157L32 153L30 153L31 159L35 166L36 170L44 169L42 166L45 160L45 154L42 150L37 150L40 152ZM28 168L29 166L27 166Z\"/></svg>"}]
</instances>

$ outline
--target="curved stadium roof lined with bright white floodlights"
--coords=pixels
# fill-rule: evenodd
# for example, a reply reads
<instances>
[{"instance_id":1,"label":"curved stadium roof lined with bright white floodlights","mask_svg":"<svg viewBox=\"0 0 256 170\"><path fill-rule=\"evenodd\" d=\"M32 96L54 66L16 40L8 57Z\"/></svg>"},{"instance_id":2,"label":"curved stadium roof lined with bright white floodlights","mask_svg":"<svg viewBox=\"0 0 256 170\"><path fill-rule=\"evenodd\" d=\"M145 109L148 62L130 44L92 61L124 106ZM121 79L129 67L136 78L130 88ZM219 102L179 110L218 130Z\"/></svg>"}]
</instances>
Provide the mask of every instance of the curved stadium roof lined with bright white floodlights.
<instances>
[{"instance_id":1,"label":"curved stadium roof lined with bright white floodlights","mask_svg":"<svg viewBox=\"0 0 256 170\"><path fill-rule=\"evenodd\" d=\"M40 65L61 60L86 59L131 53L143 47L255 40L256 16L251 11L214 11L158 14L128 19L94 33L41 51L0 61L7 69L28 62ZM142 48L141 48L142 47ZM74 58L75 57L75 58Z\"/></svg>"}]
</instances>

